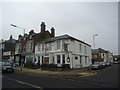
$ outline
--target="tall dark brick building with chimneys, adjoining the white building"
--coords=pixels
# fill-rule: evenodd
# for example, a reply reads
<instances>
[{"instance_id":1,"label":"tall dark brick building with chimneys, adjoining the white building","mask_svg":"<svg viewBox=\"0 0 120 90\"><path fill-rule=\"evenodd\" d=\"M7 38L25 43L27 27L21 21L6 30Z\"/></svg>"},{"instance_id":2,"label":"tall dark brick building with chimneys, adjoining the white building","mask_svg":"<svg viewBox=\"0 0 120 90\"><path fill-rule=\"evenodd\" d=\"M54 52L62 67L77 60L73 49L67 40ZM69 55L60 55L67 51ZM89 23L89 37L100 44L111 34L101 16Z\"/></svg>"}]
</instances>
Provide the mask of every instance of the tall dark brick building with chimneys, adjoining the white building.
<instances>
[{"instance_id":1,"label":"tall dark brick building with chimneys, adjoining the white building","mask_svg":"<svg viewBox=\"0 0 120 90\"><path fill-rule=\"evenodd\" d=\"M35 45L41 40L45 40L55 36L55 29L51 28L51 33L46 30L44 22L41 23L40 33L35 33L31 30L29 34L24 36L19 35L15 49L15 61L21 63L34 63L35 58Z\"/></svg>"}]
</instances>

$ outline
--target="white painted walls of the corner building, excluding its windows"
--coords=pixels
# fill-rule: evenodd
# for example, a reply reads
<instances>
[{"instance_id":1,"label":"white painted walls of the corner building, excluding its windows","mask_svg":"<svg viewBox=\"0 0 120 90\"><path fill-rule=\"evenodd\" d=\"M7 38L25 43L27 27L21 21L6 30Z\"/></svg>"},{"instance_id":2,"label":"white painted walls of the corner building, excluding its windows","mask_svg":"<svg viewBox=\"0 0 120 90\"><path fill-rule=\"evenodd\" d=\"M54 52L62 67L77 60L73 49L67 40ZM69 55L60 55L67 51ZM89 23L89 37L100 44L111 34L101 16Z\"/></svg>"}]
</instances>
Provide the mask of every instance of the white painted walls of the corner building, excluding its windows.
<instances>
[{"instance_id":1,"label":"white painted walls of the corner building, excluding its windows","mask_svg":"<svg viewBox=\"0 0 120 90\"><path fill-rule=\"evenodd\" d=\"M70 40L70 39L67 39L65 40L65 43L68 43L68 52L65 52L64 49L62 48L62 41L63 40L60 40L61 42L61 48L57 50L57 43L56 41L54 42L51 42L51 45L52 45L52 50L47 50L47 51L38 51L38 45L37 44L35 46L35 55L36 55L36 58L38 56L41 56L44 54L49 54L49 64L53 63L53 57L54 57L54 63L57 64L57 55L61 55L61 64L62 64L62 55L65 54L65 64L70 64L70 67L71 68L80 68L80 67L87 67L91 64L91 47L88 46L88 45L85 45L83 43L80 43L78 41L75 41L75 40ZM45 44L44 46L48 46L50 43L47 43ZM79 44L82 45L81 47L81 52L80 52L80 48L79 48ZM85 48L84 46L86 46L86 52L85 53ZM68 57L68 54L69 54L69 57L70 57L70 62L67 62L67 57ZM80 56L82 57L82 60L81 60L81 64L80 64ZM78 57L77 60L75 60L75 57ZM87 57L87 61L85 63L85 57ZM41 63L41 62L40 62Z\"/></svg>"}]
</instances>

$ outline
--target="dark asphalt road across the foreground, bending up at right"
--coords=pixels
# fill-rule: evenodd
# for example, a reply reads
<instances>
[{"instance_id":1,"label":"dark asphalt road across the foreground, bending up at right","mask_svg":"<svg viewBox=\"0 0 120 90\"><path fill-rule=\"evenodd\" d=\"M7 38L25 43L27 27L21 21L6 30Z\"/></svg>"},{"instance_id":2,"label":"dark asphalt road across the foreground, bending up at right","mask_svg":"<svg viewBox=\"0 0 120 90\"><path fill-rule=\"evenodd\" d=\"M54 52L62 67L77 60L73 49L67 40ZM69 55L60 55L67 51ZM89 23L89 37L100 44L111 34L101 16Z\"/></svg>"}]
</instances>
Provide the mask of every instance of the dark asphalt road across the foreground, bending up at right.
<instances>
[{"instance_id":1,"label":"dark asphalt road across the foreground, bending up at right","mask_svg":"<svg viewBox=\"0 0 120 90\"><path fill-rule=\"evenodd\" d=\"M24 73L3 74L2 88L117 88L118 64L96 70L87 77L40 77Z\"/></svg>"}]
</instances>

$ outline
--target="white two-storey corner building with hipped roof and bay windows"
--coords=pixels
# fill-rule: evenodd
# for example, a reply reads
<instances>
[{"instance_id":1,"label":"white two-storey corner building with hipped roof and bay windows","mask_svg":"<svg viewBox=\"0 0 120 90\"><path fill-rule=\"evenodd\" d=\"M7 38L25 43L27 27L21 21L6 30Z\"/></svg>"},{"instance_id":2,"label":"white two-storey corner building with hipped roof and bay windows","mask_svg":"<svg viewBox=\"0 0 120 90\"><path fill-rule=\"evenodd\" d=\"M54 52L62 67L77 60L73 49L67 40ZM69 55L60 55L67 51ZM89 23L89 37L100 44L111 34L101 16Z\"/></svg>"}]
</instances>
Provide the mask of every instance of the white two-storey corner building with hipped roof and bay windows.
<instances>
[{"instance_id":1,"label":"white two-storey corner building with hipped roof and bay windows","mask_svg":"<svg viewBox=\"0 0 120 90\"><path fill-rule=\"evenodd\" d=\"M35 46L36 63L69 64L70 68L88 67L91 64L91 46L69 35L38 42Z\"/></svg>"}]
</instances>

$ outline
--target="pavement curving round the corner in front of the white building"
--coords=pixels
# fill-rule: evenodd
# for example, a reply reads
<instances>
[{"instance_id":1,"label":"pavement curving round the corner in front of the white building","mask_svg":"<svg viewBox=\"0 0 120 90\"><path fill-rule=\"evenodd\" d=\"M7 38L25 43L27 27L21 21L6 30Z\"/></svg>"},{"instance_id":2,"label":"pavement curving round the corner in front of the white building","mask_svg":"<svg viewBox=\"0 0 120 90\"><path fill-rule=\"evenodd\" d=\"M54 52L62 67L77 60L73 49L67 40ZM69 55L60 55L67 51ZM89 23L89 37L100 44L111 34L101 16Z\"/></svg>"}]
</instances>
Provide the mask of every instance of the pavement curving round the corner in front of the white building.
<instances>
[{"instance_id":1,"label":"pavement curving round the corner in front of the white building","mask_svg":"<svg viewBox=\"0 0 120 90\"><path fill-rule=\"evenodd\" d=\"M27 73L39 76L54 76L54 77L64 77L64 78L76 78L85 77L97 74L95 71L88 70L87 68L72 69L66 71L47 71L41 69L28 69L21 67L15 67L15 72L17 73Z\"/></svg>"}]
</instances>

